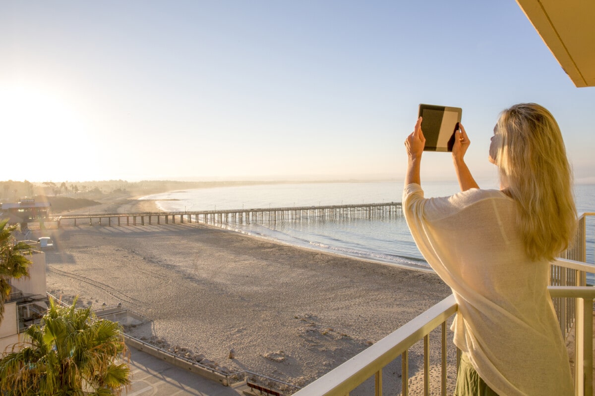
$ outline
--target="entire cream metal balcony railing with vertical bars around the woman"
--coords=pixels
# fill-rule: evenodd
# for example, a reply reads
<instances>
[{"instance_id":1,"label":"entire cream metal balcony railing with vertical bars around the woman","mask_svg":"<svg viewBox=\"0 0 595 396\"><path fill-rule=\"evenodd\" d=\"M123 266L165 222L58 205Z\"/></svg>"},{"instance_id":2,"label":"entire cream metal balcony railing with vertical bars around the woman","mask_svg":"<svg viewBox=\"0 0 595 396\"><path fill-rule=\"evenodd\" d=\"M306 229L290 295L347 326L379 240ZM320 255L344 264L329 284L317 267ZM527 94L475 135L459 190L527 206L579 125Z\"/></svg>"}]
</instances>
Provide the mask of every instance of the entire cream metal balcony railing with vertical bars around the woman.
<instances>
[{"instance_id":1,"label":"entire cream metal balcony railing with vertical bars around the woman","mask_svg":"<svg viewBox=\"0 0 595 396\"><path fill-rule=\"evenodd\" d=\"M585 284L586 274L594 273L595 266L585 262L587 251L585 219L587 216L595 216L595 213L585 213L579 218L579 229L574 245L563 254L565 258L558 259L552 264L550 276L552 286L549 287L562 334L568 335L571 329L574 329L574 377L577 396L593 394L593 300L595 299L595 287L588 287ZM457 310L457 303L451 294L411 322L293 395L349 396L350 392L368 379L373 378L374 392L372 394L381 396L383 394L383 368L400 359L401 389L400 392L398 389L392 389L390 394L407 396L410 391L409 350L420 341L423 341L424 346L423 394L430 395L431 392L432 394L446 395L449 385L447 384L448 373L452 373L458 366L461 357L460 351L456 349L455 361L447 362L449 360L447 359L447 347L453 347L452 335L447 337L447 322ZM430 389L430 333L438 328L440 328L440 389ZM450 363L450 367L448 363ZM359 394L359 389L357 393ZM415 394L420 393L421 389L416 389Z\"/></svg>"}]
</instances>

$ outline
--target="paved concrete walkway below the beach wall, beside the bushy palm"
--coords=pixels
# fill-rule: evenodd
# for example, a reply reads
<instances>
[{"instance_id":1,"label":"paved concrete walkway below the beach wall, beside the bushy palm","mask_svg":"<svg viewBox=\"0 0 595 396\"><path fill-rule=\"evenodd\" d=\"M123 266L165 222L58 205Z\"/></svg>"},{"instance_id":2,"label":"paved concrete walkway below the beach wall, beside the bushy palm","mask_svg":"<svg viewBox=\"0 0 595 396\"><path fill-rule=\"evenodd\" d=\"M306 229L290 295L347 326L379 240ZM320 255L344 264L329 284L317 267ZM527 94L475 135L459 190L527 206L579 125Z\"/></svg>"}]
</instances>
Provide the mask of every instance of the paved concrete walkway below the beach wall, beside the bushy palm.
<instances>
[{"instance_id":1,"label":"paved concrete walkway below the beach wall, beside the bushy palm","mask_svg":"<svg viewBox=\"0 0 595 396\"><path fill-rule=\"evenodd\" d=\"M132 386L127 396L238 396L243 394L231 387L203 378L143 351L130 348Z\"/></svg>"}]
</instances>

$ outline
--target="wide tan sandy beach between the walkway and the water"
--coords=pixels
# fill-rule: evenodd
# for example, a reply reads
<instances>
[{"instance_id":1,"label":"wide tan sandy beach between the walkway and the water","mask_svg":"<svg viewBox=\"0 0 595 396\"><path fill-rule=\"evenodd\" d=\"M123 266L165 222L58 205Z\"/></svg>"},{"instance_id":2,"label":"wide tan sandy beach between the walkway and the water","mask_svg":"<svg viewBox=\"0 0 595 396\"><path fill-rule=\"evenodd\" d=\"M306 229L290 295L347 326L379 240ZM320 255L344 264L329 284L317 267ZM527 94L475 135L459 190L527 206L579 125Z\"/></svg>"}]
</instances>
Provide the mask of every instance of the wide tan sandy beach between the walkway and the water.
<instances>
[{"instance_id":1,"label":"wide tan sandy beach between the walkway and the water","mask_svg":"<svg viewBox=\"0 0 595 396\"><path fill-rule=\"evenodd\" d=\"M126 211L154 209L151 201L128 202ZM151 319L126 328L134 337L184 348L222 370L250 370L299 386L450 294L432 273L194 223L84 224L45 233L57 246L46 252L50 293L65 300L78 295L93 308L121 303ZM439 342L431 346L436 355ZM413 388L421 384L420 349L411 352ZM434 367L434 383L437 375ZM385 370L383 381L385 394L399 394L399 362Z\"/></svg>"}]
</instances>

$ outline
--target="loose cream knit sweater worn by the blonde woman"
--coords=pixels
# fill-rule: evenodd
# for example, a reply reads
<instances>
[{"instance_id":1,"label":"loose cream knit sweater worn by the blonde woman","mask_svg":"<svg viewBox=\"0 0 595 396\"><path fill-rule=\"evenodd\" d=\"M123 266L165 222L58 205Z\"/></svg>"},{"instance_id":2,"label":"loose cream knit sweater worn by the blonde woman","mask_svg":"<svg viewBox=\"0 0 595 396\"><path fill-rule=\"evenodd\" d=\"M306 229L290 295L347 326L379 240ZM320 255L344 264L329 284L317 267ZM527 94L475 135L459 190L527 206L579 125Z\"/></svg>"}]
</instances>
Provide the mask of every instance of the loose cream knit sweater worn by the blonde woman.
<instances>
[{"instance_id":1,"label":"loose cream knit sweater worn by the blonde woman","mask_svg":"<svg viewBox=\"0 0 595 396\"><path fill-rule=\"evenodd\" d=\"M513 199L481 189L425 199L412 183L403 213L419 251L455 294L455 345L486 384L500 396L574 395L547 292L549 263L525 254Z\"/></svg>"}]
</instances>

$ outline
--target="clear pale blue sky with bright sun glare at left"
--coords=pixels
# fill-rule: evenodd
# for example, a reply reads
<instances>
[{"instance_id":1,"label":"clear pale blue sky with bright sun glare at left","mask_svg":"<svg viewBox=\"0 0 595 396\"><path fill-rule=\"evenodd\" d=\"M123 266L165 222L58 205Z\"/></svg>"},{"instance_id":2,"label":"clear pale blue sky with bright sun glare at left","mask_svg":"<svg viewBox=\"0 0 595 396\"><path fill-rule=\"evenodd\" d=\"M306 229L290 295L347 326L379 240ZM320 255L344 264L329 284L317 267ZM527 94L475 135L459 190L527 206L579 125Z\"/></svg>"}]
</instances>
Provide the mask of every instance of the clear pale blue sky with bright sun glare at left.
<instances>
[{"instance_id":1,"label":"clear pale blue sky with bright sun glare at left","mask_svg":"<svg viewBox=\"0 0 595 396\"><path fill-rule=\"evenodd\" d=\"M402 180L419 103L462 107L469 168L495 179L521 102L595 183L595 88L512 0L0 3L0 180ZM422 180L453 179L424 154Z\"/></svg>"}]
</instances>

